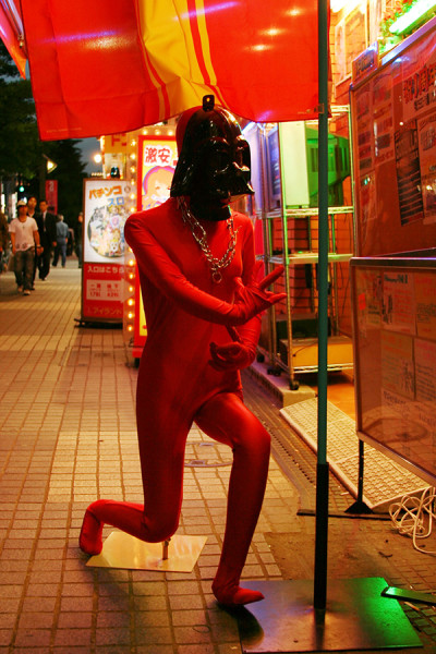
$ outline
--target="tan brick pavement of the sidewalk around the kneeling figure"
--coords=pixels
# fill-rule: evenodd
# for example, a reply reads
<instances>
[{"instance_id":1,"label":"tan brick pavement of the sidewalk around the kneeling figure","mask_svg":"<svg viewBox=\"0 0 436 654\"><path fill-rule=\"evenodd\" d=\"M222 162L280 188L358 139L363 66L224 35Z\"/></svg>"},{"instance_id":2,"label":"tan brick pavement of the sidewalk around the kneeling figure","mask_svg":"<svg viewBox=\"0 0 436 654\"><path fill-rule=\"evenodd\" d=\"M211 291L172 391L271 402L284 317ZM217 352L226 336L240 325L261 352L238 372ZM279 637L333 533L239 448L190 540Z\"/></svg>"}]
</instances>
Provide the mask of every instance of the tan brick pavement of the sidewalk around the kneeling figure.
<instances>
[{"instance_id":1,"label":"tan brick pavement of the sidewalk around the kneeling figure","mask_svg":"<svg viewBox=\"0 0 436 654\"><path fill-rule=\"evenodd\" d=\"M96 497L141 501L142 492L137 371L121 329L76 326L80 298L74 259L28 298L16 294L12 274L0 276L0 652L238 654L235 619L210 593L230 470L214 462L227 463L229 453L202 448L208 439L198 429L186 463L201 457L210 465L185 468L179 530L208 536L194 571L85 566L77 546L85 507ZM256 401L275 410L264 390ZM245 578L312 578L314 520L298 508L295 485L271 460ZM329 538L331 577L436 585L434 558L415 553L387 522L332 519ZM436 613L407 608L425 651L435 652Z\"/></svg>"}]
</instances>

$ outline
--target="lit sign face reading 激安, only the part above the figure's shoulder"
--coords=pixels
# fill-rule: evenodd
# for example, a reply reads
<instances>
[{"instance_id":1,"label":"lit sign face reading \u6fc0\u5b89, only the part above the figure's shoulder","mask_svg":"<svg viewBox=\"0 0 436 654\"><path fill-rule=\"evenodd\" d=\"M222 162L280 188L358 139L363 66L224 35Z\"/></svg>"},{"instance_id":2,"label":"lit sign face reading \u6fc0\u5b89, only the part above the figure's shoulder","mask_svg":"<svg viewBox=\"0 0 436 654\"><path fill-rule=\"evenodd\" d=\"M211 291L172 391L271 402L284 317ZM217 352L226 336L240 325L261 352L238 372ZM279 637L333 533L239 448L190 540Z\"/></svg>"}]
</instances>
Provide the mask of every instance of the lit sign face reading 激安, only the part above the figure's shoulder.
<instances>
[{"instance_id":1,"label":"lit sign face reading \u6fc0\u5b89, only the part above the figure's shoulder","mask_svg":"<svg viewBox=\"0 0 436 654\"><path fill-rule=\"evenodd\" d=\"M138 145L138 210L146 211L170 196L178 159L177 145L173 136L160 135L140 136Z\"/></svg>"}]
</instances>

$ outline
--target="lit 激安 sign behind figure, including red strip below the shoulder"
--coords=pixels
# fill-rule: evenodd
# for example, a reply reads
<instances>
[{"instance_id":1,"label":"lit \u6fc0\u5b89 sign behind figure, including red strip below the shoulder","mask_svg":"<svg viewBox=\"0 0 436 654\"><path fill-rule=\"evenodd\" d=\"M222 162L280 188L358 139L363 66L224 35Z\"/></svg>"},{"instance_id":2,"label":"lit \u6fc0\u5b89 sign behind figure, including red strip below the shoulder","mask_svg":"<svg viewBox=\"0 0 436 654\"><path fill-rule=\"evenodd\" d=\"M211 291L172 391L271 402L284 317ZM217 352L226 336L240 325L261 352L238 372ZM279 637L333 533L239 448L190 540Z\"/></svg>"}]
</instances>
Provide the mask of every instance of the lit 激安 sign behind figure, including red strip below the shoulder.
<instances>
[{"instance_id":1,"label":"lit \u6fc0\u5b89 sign behind figure, including red strip below the shoulder","mask_svg":"<svg viewBox=\"0 0 436 654\"><path fill-rule=\"evenodd\" d=\"M137 209L146 211L170 196L178 154L174 136L147 135L138 138ZM133 356L138 358L147 338L144 305L136 274Z\"/></svg>"}]
</instances>

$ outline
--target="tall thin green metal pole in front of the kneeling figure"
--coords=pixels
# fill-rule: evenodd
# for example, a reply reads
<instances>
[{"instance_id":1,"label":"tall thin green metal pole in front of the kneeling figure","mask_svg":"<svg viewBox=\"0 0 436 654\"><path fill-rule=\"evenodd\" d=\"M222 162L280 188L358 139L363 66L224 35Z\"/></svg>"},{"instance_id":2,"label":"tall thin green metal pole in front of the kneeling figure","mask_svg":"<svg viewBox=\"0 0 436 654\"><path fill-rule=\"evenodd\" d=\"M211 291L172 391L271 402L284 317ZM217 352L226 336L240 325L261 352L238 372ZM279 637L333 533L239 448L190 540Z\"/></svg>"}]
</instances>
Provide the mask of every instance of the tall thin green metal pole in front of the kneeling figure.
<instances>
[{"instance_id":1,"label":"tall thin green metal pole in front of the kneeling figure","mask_svg":"<svg viewBox=\"0 0 436 654\"><path fill-rule=\"evenodd\" d=\"M316 468L316 535L314 607L326 608L328 463L327 463L327 336L328 336L328 16L327 0L318 0L318 446Z\"/></svg>"}]
</instances>

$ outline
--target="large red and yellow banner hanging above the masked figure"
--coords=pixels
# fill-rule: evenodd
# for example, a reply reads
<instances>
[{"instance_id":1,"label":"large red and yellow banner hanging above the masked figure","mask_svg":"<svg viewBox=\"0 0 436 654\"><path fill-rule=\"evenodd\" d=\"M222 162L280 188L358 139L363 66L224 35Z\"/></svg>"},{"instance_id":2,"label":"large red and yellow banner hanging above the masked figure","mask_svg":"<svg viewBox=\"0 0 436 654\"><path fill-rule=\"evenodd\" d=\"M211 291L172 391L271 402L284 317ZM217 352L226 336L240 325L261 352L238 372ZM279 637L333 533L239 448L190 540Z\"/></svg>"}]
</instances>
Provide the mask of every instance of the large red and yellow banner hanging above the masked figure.
<instances>
[{"instance_id":1,"label":"large red and yellow banner hanging above the masked figure","mask_svg":"<svg viewBox=\"0 0 436 654\"><path fill-rule=\"evenodd\" d=\"M317 116L317 0L22 0L43 140L138 129L213 93L258 121Z\"/></svg>"}]
</instances>

